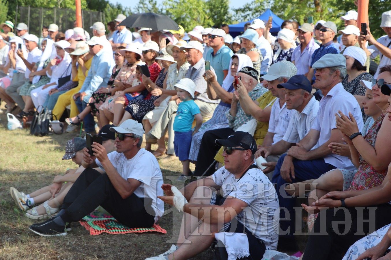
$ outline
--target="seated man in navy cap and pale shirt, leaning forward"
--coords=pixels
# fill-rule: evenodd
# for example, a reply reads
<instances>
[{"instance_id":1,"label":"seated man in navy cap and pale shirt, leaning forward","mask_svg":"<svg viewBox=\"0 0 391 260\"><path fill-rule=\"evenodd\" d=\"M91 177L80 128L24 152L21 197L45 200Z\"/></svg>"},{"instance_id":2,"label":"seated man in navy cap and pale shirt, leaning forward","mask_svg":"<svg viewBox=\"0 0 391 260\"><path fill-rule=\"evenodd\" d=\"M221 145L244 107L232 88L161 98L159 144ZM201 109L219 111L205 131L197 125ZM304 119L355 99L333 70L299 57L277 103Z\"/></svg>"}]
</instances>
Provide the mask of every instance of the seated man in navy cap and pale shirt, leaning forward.
<instances>
[{"instance_id":1,"label":"seated man in navy cap and pale shirt, leaning forward","mask_svg":"<svg viewBox=\"0 0 391 260\"><path fill-rule=\"evenodd\" d=\"M306 76L295 75L286 83L278 84L277 88L285 89L287 109L296 110L296 112L291 114L288 128L282 140L271 146L261 147L255 153L256 158L280 155L294 144L299 143L310 131L319 110L319 101L311 94L312 86ZM276 162L274 162L275 165ZM274 166L269 166L269 169L265 169L263 172L273 171Z\"/></svg>"}]
</instances>

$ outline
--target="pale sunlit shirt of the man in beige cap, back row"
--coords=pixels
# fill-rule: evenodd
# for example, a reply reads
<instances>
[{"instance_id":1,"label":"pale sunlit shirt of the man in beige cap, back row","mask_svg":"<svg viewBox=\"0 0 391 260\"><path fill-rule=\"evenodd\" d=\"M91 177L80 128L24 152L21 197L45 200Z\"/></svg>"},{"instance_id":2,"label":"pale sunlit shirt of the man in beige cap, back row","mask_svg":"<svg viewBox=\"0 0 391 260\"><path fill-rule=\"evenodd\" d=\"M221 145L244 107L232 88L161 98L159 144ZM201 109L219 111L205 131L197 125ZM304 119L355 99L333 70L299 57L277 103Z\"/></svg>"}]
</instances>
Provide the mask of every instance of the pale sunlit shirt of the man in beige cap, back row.
<instances>
[{"instance_id":1,"label":"pale sunlit shirt of the man in beige cap, back row","mask_svg":"<svg viewBox=\"0 0 391 260\"><path fill-rule=\"evenodd\" d=\"M311 41L304 48L304 51L301 52L301 43L296 47L292 53L292 61L294 61L294 65L297 68L297 74L306 74L310 67L310 60L312 54L316 49L319 49L319 45L315 43L312 38Z\"/></svg>"}]
</instances>

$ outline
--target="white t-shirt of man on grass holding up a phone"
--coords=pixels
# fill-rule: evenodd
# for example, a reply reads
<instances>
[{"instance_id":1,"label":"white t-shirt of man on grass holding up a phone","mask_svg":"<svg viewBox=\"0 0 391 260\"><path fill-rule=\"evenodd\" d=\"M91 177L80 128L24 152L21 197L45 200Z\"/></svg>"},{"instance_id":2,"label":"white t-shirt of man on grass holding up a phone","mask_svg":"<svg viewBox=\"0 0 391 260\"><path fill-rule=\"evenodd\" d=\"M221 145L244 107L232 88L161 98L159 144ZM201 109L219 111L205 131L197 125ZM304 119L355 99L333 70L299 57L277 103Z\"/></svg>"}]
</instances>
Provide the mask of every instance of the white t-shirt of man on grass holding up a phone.
<instances>
[{"instance_id":1,"label":"white t-shirt of man on grass holding up a phone","mask_svg":"<svg viewBox=\"0 0 391 260\"><path fill-rule=\"evenodd\" d=\"M163 175L158 161L154 155L144 148L140 149L132 159L126 159L124 153L111 152L107 155L114 168L124 180L129 178L136 179L141 183L134 191L139 198L151 198L152 208L155 211L155 223L158 217L164 213L163 200L157 196L163 196L161 185L163 184ZM98 159L95 160L97 165L103 169Z\"/></svg>"}]
</instances>

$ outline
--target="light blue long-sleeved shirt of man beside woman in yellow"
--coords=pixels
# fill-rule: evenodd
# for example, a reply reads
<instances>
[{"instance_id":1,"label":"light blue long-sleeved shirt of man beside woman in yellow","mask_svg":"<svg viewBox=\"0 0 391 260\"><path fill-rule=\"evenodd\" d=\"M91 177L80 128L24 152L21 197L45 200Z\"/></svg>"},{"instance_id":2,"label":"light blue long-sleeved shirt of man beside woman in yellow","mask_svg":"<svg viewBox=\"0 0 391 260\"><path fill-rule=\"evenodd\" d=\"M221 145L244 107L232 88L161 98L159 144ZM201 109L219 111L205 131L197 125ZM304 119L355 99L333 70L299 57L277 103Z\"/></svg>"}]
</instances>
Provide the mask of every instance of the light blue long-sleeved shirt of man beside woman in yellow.
<instances>
[{"instance_id":1,"label":"light blue long-sleeved shirt of man beside woman in yellow","mask_svg":"<svg viewBox=\"0 0 391 260\"><path fill-rule=\"evenodd\" d=\"M108 50L100 50L92 58L88 76L84 80L79 92L86 92L87 95L91 95L98 88L106 87L111 77L111 72L113 72L114 65L113 55Z\"/></svg>"}]
</instances>

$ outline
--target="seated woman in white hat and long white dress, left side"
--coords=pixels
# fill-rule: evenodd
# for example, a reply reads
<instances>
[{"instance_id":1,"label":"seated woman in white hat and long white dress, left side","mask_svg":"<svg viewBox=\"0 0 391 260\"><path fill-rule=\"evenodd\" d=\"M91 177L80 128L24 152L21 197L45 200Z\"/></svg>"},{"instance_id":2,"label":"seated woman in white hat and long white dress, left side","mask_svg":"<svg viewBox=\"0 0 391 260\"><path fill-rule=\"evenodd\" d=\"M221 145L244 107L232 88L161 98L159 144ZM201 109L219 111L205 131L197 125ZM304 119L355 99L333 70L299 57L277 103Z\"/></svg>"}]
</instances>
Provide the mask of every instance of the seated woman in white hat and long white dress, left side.
<instances>
[{"instance_id":1,"label":"seated woman in white hat and long white dress, left side","mask_svg":"<svg viewBox=\"0 0 391 260\"><path fill-rule=\"evenodd\" d=\"M49 83L30 92L32 102L38 111L41 110L41 106L43 106L49 96L49 91L58 86L59 78L69 76L72 72L72 59L68 52L65 51L65 48L69 47L70 43L61 40L54 43L54 46L56 47L57 56L50 61L50 66L47 67L46 71L46 75L50 78Z\"/></svg>"}]
</instances>

